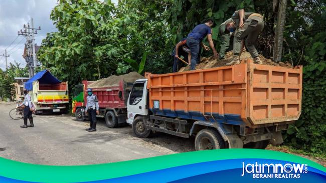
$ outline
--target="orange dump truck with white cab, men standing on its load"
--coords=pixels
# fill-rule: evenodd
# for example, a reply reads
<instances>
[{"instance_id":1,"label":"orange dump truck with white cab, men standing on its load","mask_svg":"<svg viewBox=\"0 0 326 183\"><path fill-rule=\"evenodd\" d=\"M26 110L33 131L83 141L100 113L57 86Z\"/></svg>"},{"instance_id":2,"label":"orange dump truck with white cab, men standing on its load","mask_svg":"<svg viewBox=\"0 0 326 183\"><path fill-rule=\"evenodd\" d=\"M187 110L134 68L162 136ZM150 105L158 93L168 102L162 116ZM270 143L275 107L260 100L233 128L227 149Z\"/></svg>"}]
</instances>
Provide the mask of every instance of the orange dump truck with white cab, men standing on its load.
<instances>
[{"instance_id":1,"label":"orange dump truck with white cab, men standing on its load","mask_svg":"<svg viewBox=\"0 0 326 183\"><path fill-rule=\"evenodd\" d=\"M234 66L145 73L130 92L127 122L138 137L195 136L196 150L265 148L301 113L302 66Z\"/></svg>"}]
</instances>

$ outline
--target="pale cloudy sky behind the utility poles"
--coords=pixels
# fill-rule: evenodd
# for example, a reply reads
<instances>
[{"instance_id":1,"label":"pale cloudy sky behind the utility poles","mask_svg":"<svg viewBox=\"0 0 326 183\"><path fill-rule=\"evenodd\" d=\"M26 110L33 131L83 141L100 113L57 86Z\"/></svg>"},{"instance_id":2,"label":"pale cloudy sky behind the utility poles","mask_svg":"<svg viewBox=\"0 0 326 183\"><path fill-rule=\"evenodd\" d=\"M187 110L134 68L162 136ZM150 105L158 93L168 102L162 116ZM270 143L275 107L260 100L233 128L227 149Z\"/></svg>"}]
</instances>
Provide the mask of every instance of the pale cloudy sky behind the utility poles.
<instances>
[{"instance_id":1,"label":"pale cloudy sky behind the utility poles","mask_svg":"<svg viewBox=\"0 0 326 183\"><path fill-rule=\"evenodd\" d=\"M113 0L117 3L117 0ZM22 57L26 39L18 36L18 31L23 29L23 25L31 23L34 19L34 27L41 26L41 31L35 37L35 43L41 45L42 39L50 32L57 29L50 20L51 10L57 5L57 0L1 0L0 4L0 55L5 54L7 49L9 62L21 63L21 67L26 66ZM0 68L5 70L5 57L0 57Z\"/></svg>"}]
</instances>

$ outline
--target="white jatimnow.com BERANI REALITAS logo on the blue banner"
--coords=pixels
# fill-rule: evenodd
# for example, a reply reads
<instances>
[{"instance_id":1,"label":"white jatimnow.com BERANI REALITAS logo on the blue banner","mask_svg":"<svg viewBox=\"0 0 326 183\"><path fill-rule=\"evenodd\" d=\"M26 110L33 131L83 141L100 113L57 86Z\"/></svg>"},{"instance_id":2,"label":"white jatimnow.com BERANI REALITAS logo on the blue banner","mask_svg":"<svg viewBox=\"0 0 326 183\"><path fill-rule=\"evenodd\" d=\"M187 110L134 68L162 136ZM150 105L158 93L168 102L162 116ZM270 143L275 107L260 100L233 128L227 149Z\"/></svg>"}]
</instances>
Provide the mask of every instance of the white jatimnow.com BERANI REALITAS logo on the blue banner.
<instances>
[{"instance_id":1,"label":"white jatimnow.com BERANI REALITAS logo on the blue banner","mask_svg":"<svg viewBox=\"0 0 326 183\"><path fill-rule=\"evenodd\" d=\"M300 178L308 172L308 164L299 163L245 163L242 162L242 174L252 174L252 178Z\"/></svg>"}]
</instances>

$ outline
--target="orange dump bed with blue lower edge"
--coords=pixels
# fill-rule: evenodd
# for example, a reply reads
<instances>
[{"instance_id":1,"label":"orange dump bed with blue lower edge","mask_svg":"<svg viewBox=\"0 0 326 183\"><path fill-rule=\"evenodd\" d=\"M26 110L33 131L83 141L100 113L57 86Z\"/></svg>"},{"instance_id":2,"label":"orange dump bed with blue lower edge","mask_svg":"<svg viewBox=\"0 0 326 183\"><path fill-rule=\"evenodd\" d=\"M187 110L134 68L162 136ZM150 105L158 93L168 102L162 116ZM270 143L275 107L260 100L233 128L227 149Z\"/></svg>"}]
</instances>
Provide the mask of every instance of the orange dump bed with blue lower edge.
<instances>
[{"instance_id":1,"label":"orange dump bed with blue lower edge","mask_svg":"<svg viewBox=\"0 0 326 183\"><path fill-rule=\"evenodd\" d=\"M302 66L292 69L248 60L145 77L154 115L255 128L290 123L301 113Z\"/></svg>"}]
</instances>

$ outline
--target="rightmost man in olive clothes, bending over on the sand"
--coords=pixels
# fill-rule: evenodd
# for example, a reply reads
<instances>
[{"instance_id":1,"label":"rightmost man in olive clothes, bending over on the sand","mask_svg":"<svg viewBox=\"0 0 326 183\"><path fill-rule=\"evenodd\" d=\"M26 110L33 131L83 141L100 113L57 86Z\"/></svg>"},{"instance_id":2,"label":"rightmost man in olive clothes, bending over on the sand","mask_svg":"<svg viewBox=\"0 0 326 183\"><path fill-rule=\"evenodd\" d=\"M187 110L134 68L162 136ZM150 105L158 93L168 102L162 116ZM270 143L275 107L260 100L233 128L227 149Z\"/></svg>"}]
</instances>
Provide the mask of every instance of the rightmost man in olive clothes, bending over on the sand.
<instances>
[{"instance_id":1,"label":"rightmost man in olive clothes, bending over on the sand","mask_svg":"<svg viewBox=\"0 0 326 183\"><path fill-rule=\"evenodd\" d=\"M247 13L243 9L235 11L231 17L232 22L226 25L226 30L235 30L233 40L233 59L227 65L240 64L240 55L243 51L244 40L246 47L254 59L255 64L262 64L255 48L258 35L264 29L263 17L256 13Z\"/></svg>"}]
</instances>

